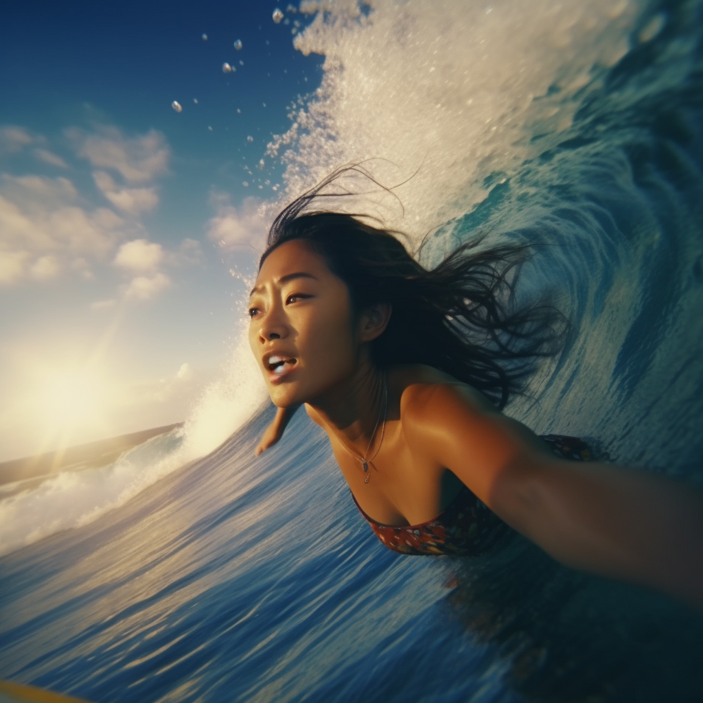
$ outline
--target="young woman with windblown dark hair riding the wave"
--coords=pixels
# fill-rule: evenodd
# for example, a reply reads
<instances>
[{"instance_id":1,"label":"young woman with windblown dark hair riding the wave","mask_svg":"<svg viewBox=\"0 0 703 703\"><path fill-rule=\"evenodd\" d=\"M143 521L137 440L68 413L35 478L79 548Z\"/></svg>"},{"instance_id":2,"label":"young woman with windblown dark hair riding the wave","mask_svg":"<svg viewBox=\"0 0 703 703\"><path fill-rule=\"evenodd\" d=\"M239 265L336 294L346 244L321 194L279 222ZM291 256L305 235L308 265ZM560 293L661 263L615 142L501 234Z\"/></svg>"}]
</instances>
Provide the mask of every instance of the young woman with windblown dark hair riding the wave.
<instances>
[{"instance_id":1,"label":"young woman with windblown dark hair riding the wave","mask_svg":"<svg viewBox=\"0 0 703 703\"><path fill-rule=\"evenodd\" d=\"M574 462L579 440L501 413L558 338L552 309L511 302L524 247L464 246L428 271L396 233L312 209L329 182L280 213L251 293L278 406L257 453L304 404L389 548L476 553L508 524L566 565L703 607L697 489Z\"/></svg>"}]
</instances>

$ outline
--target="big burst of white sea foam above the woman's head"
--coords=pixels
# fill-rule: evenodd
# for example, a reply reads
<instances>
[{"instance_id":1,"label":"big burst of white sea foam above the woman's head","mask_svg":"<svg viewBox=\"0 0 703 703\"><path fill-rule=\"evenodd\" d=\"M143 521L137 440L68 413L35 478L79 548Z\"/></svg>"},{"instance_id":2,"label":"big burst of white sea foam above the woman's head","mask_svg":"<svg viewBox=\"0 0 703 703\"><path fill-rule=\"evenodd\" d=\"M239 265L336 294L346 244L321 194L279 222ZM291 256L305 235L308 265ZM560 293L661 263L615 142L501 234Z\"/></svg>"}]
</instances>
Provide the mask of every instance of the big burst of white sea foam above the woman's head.
<instances>
[{"instance_id":1,"label":"big burst of white sea foam above the woman's head","mask_svg":"<svg viewBox=\"0 0 703 703\"><path fill-rule=\"evenodd\" d=\"M626 53L641 3L366 6L370 11L354 0L302 2L303 13L316 15L295 46L325 56L323 80L268 152L287 164L284 201L350 162L376 159L368 167L387 185L419 169L396 190L404 217L389 200L335 207L375 207L388 224L422 236L480 202L485 176L515 172L532 153L536 123L555 134L572 124L576 103L569 98L598 67Z\"/></svg>"}]
</instances>

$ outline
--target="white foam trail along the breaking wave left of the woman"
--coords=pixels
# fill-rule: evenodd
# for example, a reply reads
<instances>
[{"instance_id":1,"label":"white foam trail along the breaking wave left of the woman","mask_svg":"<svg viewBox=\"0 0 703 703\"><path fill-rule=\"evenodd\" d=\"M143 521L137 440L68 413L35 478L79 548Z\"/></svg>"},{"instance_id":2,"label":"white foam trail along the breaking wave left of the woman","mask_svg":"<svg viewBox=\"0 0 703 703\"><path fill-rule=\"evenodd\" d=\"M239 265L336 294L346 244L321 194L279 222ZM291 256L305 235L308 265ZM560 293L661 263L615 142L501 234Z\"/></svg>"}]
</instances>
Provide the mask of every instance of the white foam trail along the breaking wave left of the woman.
<instances>
[{"instance_id":1,"label":"white foam trail along the breaking wave left of the woman","mask_svg":"<svg viewBox=\"0 0 703 703\"><path fill-rule=\"evenodd\" d=\"M223 377L205 389L181 429L153 437L108 466L60 472L24 491L20 484L0 501L0 555L93 522L238 430L266 398L244 332Z\"/></svg>"}]
</instances>

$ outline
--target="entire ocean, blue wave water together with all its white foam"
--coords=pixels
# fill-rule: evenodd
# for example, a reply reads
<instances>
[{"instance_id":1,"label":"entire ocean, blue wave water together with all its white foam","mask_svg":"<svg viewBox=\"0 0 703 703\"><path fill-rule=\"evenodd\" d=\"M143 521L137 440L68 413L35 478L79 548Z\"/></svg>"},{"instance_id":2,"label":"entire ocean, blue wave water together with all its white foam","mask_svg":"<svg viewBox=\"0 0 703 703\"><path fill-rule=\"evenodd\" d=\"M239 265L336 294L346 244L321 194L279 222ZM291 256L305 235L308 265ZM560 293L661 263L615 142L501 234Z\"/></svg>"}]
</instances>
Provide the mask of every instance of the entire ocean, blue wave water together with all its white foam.
<instances>
[{"instance_id":1,"label":"entire ocean, blue wave water together with all its white foam","mask_svg":"<svg viewBox=\"0 0 703 703\"><path fill-rule=\"evenodd\" d=\"M269 147L289 192L392 155L389 178L422 165L395 224L439 227L425 261L477 233L539 243L520 295L553 290L573 330L508 413L700 484L702 4L355 7L296 39L327 63ZM5 487L1 678L100 703L703 699L685 606L519 536L389 552L302 412L254 459L271 408L246 354L183 430Z\"/></svg>"}]
</instances>

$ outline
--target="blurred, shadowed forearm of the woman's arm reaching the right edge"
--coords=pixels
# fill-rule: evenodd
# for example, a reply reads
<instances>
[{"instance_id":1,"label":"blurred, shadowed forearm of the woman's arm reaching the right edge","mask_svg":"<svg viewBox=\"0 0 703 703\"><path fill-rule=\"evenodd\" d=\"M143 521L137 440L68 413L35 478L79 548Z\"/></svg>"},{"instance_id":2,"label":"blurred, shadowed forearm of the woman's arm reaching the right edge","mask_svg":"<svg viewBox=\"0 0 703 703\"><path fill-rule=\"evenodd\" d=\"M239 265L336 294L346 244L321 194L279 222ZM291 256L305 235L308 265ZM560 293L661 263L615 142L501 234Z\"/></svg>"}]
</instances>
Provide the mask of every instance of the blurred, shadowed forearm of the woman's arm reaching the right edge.
<instances>
[{"instance_id":1,"label":"blurred, shadowed forearm of the woman's arm reaching the right edge","mask_svg":"<svg viewBox=\"0 0 703 703\"><path fill-rule=\"evenodd\" d=\"M703 607L703 494L605 464L548 462L513 485L508 522L563 563Z\"/></svg>"}]
</instances>

